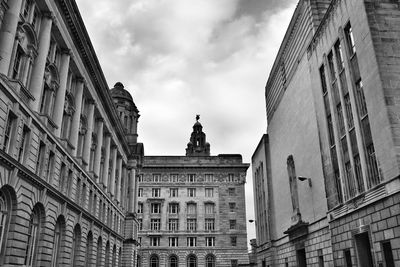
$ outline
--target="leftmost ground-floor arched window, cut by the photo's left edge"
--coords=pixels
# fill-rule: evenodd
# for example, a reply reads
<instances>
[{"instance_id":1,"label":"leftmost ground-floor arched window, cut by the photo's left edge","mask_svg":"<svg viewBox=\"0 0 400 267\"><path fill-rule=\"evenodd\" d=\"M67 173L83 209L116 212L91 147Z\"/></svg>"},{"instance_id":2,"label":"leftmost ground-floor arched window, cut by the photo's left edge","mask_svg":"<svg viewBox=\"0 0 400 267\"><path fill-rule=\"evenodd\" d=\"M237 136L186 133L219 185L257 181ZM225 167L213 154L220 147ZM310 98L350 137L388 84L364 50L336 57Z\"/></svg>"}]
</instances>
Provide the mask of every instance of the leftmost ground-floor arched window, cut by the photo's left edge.
<instances>
[{"instance_id":1,"label":"leftmost ground-floor arched window, cut by the photo's left edge","mask_svg":"<svg viewBox=\"0 0 400 267\"><path fill-rule=\"evenodd\" d=\"M7 247L7 236L12 218L15 193L3 187L0 190L0 266L3 266Z\"/></svg>"}]
</instances>

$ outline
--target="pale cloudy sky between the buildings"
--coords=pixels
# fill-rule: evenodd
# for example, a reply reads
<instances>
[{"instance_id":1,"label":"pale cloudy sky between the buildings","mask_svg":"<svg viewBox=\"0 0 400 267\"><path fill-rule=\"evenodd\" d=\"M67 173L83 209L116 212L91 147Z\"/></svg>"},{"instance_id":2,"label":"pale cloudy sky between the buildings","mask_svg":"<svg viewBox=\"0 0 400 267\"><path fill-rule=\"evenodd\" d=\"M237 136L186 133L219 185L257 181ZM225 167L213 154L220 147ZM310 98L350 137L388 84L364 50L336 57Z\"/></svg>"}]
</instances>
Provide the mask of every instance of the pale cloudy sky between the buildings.
<instances>
[{"instance_id":1,"label":"pale cloudy sky between the buildings","mask_svg":"<svg viewBox=\"0 0 400 267\"><path fill-rule=\"evenodd\" d=\"M266 132L264 87L297 0L76 1L109 86L122 82L140 110L146 155L184 155L200 114L213 155L251 162Z\"/></svg>"}]
</instances>

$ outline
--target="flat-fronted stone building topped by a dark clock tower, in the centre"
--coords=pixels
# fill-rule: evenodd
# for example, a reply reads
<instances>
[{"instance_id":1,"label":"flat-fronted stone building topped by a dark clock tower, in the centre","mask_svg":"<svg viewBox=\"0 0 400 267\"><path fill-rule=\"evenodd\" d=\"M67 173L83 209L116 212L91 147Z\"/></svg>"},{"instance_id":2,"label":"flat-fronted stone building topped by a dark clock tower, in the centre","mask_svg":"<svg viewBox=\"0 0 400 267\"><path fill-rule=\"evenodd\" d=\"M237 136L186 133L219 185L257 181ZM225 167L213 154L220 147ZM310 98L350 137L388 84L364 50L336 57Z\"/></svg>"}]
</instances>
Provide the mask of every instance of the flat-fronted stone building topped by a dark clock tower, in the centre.
<instances>
[{"instance_id":1,"label":"flat-fronted stone building topped by a dark clock tower, in the centre","mask_svg":"<svg viewBox=\"0 0 400 267\"><path fill-rule=\"evenodd\" d=\"M199 118L197 117L197 120ZM210 156L199 121L186 156L145 156L139 178L142 266L248 264L241 155Z\"/></svg>"}]
</instances>

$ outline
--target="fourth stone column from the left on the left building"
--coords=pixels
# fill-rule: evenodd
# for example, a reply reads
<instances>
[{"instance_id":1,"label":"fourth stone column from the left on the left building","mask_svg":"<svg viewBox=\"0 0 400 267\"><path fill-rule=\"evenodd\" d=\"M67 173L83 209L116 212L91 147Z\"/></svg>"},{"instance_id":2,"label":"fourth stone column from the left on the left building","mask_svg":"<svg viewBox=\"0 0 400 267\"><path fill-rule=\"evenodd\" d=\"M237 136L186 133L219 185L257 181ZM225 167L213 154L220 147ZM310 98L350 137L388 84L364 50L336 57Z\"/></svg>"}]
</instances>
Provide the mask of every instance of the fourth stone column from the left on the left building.
<instances>
[{"instance_id":1,"label":"fourth stone column from the left on the left building","mask_svg":"<svg viewBox=\"0 0 400 267\"><path fill-rule=\"evenodd\" d=\"M71 125L71 136L70 142L72 146L75 148L72 151L72 156L77 156L78 151L78 135L79 135L79 124L81 122L81 112L82 112L82 95L83 95L83 87L85 86L85 80L83 78L77 79L76 90L75 90L75 112L72 117L72 125Z\"/></svg>"}]
</instances>

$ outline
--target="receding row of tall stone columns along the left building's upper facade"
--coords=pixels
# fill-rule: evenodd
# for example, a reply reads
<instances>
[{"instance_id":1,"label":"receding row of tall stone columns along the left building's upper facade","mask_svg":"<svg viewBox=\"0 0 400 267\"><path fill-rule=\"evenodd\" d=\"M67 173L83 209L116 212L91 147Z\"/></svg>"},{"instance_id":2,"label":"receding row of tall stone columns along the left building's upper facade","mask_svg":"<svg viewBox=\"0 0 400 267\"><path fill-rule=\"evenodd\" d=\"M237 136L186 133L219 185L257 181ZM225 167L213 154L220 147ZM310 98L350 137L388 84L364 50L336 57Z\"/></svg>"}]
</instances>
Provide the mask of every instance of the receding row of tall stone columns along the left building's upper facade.
<instances>
[{"instance_id":1,"label":"receding row of tall stone columns along the left building's upper facade","mask_svg":"<svg viewBox=\"0 0 400 267\"><path fill-rule=\"evenodd\" d=\"M0 73L8 75L8 71L10 69L10 64L12 62L12 51L15 41L15 36L18 28L20 10L22 8L23 0L13 0L9 1L9 8L4 14L3 23L0 29ZM30 92L33 96L33 101L31 101L31 108L33 111L40 112L40 101L43 92L43 83L44 83L44 74L46 69L47 55L50 49L50 41L51 41L51 29L53 24L55 23L55 17L51 12L46 12L43 14L40 33L38 38L38 49L37 49L37 57L34 60L34 65L31 74L31 82L30 82ZM55 130L55 136L60 137L61 135L61 125L63 120L64 113L64 101L65 95L67 91L67 83L68 83L68 72L70 66L72 54L70 50L63 51L61 57L61 65L59 69L59 88L57 91L55 104L54 104L54 113L53 120L58 126ZM75 112L72 117L72 129L70 136L70 143L75 148L72 151L72 155L74 157L77 156L77 146L78 146L78 130L81 118L82 111L82 102L83 102L83 90L85 86L85 80L83 78L77 79L77 86L75 92ZM97 119L97 129L94 129L95 125L95 102L88 101L88 114L87 114L87 132L84 137L84 147L82 152L82 161L86 166L86 170L88 171L88 163L90 161L90 151L92 144L92 134L93 131L97 132L97 147L95 151L94 158L94 176L96 177L97 183L102 183L105 190L109 189L111 196L115 197L118 202L121 201L121 179L126 176L126 171L123 170L122 167L122 158L118 156L117 147L111 147L111 136L109 134L105 135L105 140L103 138L103 130L104 130L104 122L103 119ZM104 155L104 165L103 165L103 177L99 177L100 174L100 162L101 162L101 148L105 146L105 155ZM111 175L110 180L108 179L109 172L109 161L111 157ZM116 170L118 170L118 180L115 183L116 179ZM127 175L129 176L129 186L131 189L136 188L135 185L135 169L129 169ZM102 179L100 181L100 179ZM110 184L108 184L110 182ZM115 186L116 192L115 192ZM131 192L129 199L129 211L135 212L135 192Z\"/></svg>"}]
</instances>

